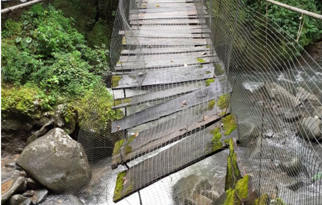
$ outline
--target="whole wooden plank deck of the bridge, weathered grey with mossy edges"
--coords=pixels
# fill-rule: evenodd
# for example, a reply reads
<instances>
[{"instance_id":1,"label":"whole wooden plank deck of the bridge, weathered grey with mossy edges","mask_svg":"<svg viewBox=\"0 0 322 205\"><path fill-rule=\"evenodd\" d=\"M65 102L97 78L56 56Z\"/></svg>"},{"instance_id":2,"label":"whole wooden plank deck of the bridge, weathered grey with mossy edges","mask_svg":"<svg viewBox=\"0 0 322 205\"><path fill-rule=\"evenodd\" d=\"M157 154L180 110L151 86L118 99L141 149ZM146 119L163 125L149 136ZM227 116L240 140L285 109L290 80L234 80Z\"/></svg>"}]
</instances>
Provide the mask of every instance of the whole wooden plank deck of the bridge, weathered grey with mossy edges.
<instances>
[{"instance_id":1,"label":"whole wooden plank deck of the bridge, weathered grey with mossy edges","mask_svg":"<svg viewBox=\"0 0 322 205\"><path fill-rule=\"evenodd\" d=\"M120 173L113 201L218 152L225 138L236 136L222 126L230 116L222 98L230 90L221 86L225 76L214 75L219 59L193 1L147 0L129 13L132 30L118 32L123 50L113 73L120 78L114 92L123 90L114 109L126 116L112 122L112 132L126 136L114 147L112 169L169 148Z\"/></svg>"}]
</instances>

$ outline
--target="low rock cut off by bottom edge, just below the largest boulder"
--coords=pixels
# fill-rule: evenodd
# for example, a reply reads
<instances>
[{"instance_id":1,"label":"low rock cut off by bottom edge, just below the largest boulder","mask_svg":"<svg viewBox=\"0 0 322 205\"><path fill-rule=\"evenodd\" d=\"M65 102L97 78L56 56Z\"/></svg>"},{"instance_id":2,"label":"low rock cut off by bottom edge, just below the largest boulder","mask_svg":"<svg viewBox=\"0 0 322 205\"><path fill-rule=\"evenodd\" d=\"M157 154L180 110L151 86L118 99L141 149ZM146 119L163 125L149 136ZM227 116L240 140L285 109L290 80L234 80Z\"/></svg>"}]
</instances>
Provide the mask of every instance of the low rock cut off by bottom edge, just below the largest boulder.
<instances>
[{"instance_id":1,"label":"low rock cut off by bottom edge, just below the largest boulder","mask_svg":"<svg viewBox=\"0 0 322 205\"><path fill-rule=\"evenodd\" d=\"M39 205L84 205L84 203L74 195L49 195L46 200Z\"/></svg>"}]
</instances>

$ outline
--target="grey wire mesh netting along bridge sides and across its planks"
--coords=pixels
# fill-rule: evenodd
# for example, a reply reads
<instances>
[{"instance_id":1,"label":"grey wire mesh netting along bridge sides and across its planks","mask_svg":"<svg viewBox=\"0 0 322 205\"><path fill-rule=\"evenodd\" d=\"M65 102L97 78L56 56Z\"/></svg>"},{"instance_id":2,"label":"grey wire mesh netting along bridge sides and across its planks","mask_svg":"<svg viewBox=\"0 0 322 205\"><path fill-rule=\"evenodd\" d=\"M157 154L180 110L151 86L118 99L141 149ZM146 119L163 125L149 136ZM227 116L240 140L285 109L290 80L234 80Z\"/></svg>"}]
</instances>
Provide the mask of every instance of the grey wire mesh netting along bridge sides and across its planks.
<instances>
[{"instance_id":1,"label":"grey wire mesh netting along bridge sides and across its planks","mask_svg":"<svg viewBox=\"0 0 322 205\"><path fill-rule=\"evenodd\" d=\"M322 204L322 68L267 15L238 0L120 0L111 42L66 194L221 204L227 139L238 136L258 197ZM106 89L117 119L102 125ZM87 183L76 180L82 160Z\"/></svg>"}]
</instances>

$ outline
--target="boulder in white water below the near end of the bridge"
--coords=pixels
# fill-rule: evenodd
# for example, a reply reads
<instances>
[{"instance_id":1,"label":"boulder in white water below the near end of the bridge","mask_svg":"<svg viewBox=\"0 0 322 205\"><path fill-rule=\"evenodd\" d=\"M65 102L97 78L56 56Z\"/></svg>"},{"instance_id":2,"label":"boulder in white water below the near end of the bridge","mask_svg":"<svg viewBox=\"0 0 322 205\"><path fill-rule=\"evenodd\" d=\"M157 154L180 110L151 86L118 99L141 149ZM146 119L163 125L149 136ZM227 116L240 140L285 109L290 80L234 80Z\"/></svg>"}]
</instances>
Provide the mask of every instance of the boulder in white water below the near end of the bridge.
<instances>
[{"instance_id":1,"label":"boulder in white water below the near end of the bridge","mask_svg":"<svg viewBox=\"0 0 322 205\"><path fill-rule=\"evenodd\" d=\"M173 187L173 198L175 204L212 204L212 200L202 193L211 190L207 178L198 175L189 175L179 179Z\"/></svg>"}]
</instances>

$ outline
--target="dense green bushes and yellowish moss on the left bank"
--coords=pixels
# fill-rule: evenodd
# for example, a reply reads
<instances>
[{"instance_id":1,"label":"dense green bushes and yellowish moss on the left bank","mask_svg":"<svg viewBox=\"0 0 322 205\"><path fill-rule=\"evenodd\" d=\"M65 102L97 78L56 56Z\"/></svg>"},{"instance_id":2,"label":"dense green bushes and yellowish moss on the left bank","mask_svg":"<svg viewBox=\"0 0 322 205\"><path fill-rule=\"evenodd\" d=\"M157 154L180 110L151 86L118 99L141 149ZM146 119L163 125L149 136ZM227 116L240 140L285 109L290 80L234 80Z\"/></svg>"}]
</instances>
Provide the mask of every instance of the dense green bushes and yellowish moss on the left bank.
<instances>
[{"instance_id":1,"label":"dense green bushes and yellowish moss on the left bank","mask_svg":"<svg viewBox=\"0 0 322 205\"><path fill-rule=\"evenodd\" d=\"M108 71L106 44L86 43L74 28L75 20L53 6L37 4L18 21L6 20L2 29L2 111L38 115L66 104L82 112ZM120 116L111 110L112 96L102 93L100 116ZM69 110L69 111L68 111ZM83 113L83 115L82 115Z\"/></svg>"}]
</instances>

